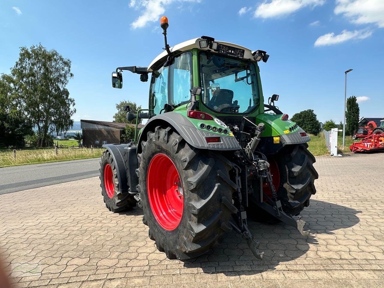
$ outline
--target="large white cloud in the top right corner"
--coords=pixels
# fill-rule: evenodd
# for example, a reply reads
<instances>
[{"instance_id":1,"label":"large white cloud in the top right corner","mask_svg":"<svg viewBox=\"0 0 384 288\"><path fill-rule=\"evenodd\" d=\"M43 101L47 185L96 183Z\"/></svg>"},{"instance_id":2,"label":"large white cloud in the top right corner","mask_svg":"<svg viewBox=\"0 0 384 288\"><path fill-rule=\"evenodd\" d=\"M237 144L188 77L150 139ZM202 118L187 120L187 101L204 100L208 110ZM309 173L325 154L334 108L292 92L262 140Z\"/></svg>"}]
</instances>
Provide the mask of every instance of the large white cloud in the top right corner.
<instances>
[{"instance_id":1,"label":"large white cloud in the top right corner","mask_svg":"<svg viewBox=\"0 0 384 288\"><path fill-rule=\"evenodd\" d=\"M335 14L343 14L355 24L376 23L384 28L383 0L336 0Z\"/></svg>"}]
</instances>

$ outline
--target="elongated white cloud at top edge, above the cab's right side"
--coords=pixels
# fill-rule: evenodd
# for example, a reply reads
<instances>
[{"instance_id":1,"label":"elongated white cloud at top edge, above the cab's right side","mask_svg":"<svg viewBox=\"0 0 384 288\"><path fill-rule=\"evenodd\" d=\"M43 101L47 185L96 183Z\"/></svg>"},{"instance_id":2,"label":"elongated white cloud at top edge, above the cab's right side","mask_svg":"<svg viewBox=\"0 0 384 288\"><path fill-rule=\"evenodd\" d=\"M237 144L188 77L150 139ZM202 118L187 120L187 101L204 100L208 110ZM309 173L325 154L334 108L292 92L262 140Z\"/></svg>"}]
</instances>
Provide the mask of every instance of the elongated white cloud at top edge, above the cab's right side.
<instances>
[{"instance_id":1,"label":"elongated white cloud at top edge, above the cab's right side","mask_svg":"<svg viewBox=\"0 0 384 288\"><path fill-rule=\"evenodd\" d=\"M255 11L255 17L270 18L293 13L304 7L323 5L325 0L272 0L264 1Z\"/></svg>"}]
</instances>

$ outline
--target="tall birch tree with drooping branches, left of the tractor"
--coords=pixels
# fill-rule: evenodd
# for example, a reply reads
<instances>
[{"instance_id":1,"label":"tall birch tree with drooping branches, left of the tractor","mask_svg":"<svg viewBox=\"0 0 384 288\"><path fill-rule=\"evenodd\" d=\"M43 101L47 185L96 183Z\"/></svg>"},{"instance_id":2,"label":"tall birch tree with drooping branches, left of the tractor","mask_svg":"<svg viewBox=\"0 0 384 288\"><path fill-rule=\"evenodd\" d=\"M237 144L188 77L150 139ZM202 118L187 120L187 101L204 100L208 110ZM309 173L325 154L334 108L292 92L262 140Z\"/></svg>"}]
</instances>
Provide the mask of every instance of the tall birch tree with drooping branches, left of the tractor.
<instances>
[{"instance_id":1,"label":"tall birch tree with drooping branches, left of the tractor","mask_svg":"<svg viewBox=\"0 0 384 288\"><path fill-rule=\"evenodd\" d=\"M41 44L21 47L11 76L20 108L37 127L37 145L45 143L52 132L67 131L73 126L71 117L76 109L66 89L73 78L69 59Z\"/></svg>"}]
</instances>

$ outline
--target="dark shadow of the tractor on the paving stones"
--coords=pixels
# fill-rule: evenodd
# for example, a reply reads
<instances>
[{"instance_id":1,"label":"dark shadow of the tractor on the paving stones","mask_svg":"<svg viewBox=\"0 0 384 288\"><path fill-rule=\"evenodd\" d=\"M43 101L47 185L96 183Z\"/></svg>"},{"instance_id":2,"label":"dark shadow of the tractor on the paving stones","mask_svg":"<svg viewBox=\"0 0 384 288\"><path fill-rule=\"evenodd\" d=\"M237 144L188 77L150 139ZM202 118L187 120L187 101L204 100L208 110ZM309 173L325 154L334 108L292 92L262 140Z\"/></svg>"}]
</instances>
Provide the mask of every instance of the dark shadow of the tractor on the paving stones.
<instances>
[{"instance_id":1,"label":"dark shadow of the tractor on the paving stones","mask_svg":"<svg viewBox=\"0 0 384 288\"><path fill-rule=\"evenodd\" d=\"M224 273L231 275L253 275L266 270L275 270L275 266L295 260L306 254L316 253L318 241L314 234L334 234L333 231L349 228L359 223L356 214L359 210L349 207L311 200L310 206L301 212L307 222L305 229L311 234L306 237L295 228L282 222L270 225L248 220L248 227L260 242L260 251L264 251L263 260L258 260L248 248L247 242L237 233L228 233L223 243L198 258L185 261L185 267L201 267L205 273ZM304 258L303 258L304 259Z\"/></svg>"}]
</instances>

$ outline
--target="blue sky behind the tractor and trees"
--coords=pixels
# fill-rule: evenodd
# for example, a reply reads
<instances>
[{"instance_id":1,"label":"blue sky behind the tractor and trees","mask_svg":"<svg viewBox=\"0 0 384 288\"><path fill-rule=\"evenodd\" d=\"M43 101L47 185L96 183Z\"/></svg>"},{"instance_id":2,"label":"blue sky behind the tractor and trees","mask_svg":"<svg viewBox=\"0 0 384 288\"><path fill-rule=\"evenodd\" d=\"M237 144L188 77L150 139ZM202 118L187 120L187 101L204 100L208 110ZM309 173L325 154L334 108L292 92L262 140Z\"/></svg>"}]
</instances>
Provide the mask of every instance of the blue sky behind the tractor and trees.
<instances>
[{"instance_id":1,"label":"blue sky behind the tractor and trees","mask_svg":"<svg viewBox=\"0 0 384 288\"><path fill-rule=\"evenodd\" d=\"M20 46L56 49L72 61L74 120L112 121L123 99L148 106L149 82L124 72L123 89L113 89L111 72L147 66L163 51L162 15L171 46L207 35L267 51L264 96L279 94L290 116L314 109L320 121L341 121L344 71L353 68L347 97L359 97L361 117L384 117L383 0L2 0L0 73L9 73Z\"/></svg>"}]
</instances>

